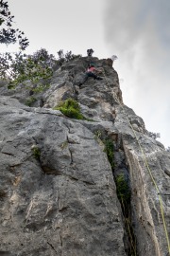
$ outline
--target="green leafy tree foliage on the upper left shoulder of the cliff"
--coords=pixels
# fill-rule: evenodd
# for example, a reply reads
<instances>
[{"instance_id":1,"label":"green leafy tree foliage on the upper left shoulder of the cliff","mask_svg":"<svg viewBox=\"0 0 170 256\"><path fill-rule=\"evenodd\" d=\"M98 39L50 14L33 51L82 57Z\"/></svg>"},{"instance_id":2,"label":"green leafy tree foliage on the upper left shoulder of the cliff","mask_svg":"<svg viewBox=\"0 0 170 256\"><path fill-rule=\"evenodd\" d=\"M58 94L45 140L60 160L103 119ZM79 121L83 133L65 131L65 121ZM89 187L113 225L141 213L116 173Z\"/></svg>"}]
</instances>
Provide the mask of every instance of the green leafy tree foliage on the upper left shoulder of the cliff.
<instances>
[{"instance_id":1,"label":"green leafy tree foliage on the upper left shoulder of the cliff","mask_svg":"<svg viewBox=\"0 0 170 256\"><path fill-rule=\"evenodd\" d=\"M40 49L33 55L19 53L0 54L0 78L8 80L8 88L18 83L32 82L37 84L48 80L53 74L53 67L57 60L54 55L48 54L46 49Z\"/></svg>"}]
</instances>

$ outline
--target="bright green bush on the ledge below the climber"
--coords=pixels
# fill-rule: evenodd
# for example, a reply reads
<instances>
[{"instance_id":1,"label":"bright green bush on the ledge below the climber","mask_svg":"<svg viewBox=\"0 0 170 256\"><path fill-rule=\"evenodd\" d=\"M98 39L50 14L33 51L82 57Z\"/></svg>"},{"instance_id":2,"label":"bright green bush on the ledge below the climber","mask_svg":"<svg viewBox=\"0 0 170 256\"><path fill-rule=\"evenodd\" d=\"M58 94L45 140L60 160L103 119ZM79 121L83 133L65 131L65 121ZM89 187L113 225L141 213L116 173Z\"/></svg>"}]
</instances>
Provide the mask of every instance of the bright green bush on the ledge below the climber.
<instances>
[{"instance_id":1,"label":"bright green bush on the ledge below the climber","mask_svg":"<svg viewBox=\"0 0 170 256\"><path fill-rule=\"evenodd\" d=\"M73 99L60 102L54 109L59 110L63 115L70 119L85 119L80 112L78 102Z\"/></svg>"}]
</instances>

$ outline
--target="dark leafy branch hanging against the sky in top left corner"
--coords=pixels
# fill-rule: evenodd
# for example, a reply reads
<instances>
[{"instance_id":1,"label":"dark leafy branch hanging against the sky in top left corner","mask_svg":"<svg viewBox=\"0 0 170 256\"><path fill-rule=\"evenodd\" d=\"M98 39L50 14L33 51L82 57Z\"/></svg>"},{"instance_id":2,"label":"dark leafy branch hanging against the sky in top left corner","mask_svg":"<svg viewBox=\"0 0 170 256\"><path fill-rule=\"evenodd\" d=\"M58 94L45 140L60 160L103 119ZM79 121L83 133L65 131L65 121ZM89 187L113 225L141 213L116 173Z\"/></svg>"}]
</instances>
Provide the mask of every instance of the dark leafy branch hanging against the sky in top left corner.
<instances>
[{"instance_id":1,"label":"dark leafy branch hanging against the sky in top left corner","mask_svg":"<svg viewBox=\"0 0 170 256\"><path fill-rule=\"evenodd\" d=\"M13 27L13 18L8 9L8 2L0 0L0 44L15 44L18 42L22 50L29 45L25 33Z\"/></svg>"}]
</instances>

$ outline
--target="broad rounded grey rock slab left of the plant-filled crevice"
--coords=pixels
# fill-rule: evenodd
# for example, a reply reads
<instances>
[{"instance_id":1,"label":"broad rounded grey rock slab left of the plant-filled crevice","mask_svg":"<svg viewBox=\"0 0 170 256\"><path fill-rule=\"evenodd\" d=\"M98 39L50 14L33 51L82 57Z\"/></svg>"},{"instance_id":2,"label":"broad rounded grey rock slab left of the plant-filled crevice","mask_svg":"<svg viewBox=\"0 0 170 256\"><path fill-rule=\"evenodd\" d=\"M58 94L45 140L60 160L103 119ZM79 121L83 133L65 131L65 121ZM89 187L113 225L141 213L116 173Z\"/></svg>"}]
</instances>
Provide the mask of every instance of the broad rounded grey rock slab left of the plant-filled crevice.
<instances>
[{"instance_id":1,"label":"broad rounded grey rock slab left of the plant-filled crevice","mask_svg":"<svg viewBox=\"0 0 170 256\"><path fill-rule=\"evenodd\" d=\"M126 255L107 155L85 126L46 112L0 98L0 251Z\"/></svg>"}]
</instances>

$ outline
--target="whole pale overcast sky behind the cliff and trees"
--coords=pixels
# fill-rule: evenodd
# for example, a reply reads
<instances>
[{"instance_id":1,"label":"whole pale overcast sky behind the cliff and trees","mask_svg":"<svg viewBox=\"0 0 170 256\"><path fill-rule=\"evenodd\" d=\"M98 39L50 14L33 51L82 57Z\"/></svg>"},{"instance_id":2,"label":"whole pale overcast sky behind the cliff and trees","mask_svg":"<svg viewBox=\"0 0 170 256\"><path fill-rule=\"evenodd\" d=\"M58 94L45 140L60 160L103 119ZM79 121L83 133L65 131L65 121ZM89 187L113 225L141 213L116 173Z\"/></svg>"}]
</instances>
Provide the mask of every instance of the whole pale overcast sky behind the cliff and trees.
<instances>
[{"instance_id":1,"label":"whole pale overcast sky behind the cliff and trees","mask_svg":"<svg viewBox=\"0 0 170 256\"><path fill-rule=\"evenodd\" d=\"M98 58L115 54L124 103L170 146L169 0L8 0L28 52L45 47ZM14 49L10 46L8 49Z\"/></svg>"}]
</instances>

